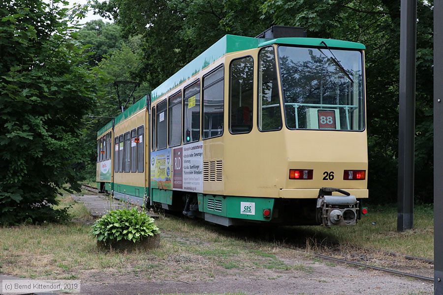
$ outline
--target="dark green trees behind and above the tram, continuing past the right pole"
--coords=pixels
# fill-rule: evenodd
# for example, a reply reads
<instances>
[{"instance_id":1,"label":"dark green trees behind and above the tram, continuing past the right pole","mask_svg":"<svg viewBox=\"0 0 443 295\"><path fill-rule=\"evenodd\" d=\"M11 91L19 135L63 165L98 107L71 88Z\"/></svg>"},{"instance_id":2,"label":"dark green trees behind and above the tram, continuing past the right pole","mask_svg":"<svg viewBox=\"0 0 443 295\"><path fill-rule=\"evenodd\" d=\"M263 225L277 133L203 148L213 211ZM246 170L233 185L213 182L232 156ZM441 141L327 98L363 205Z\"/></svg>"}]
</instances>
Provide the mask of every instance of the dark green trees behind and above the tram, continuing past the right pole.
<instances>
[{"instance_id":1,"label":"dark green trees behind and above the tram, continuing past the right pole","mask_svg":"<svg viewBox=\"0 0 443 295\"><path fill-rule=\"evenodd\" d=\"M153 87L227 33L296 26L309 37L365 44L370 197L396 200L400 0L96 0L94 7L125 34L142 36L136 76ZM433 200L432 13L432 1L417 1L415 196L425 203Z\"/></svg>"}]
</instances>

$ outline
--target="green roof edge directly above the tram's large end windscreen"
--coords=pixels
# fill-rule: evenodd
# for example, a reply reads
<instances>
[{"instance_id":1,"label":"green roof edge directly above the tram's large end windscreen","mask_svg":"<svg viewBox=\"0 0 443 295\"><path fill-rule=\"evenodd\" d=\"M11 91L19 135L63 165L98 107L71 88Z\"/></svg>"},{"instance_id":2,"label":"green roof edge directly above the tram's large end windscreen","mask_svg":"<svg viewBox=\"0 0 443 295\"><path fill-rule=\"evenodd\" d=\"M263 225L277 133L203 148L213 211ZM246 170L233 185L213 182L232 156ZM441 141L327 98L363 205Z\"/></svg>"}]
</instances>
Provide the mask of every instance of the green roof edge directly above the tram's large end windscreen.
<instances>
[{"instance_id":1,"label":"green roof edge directly above the tram's large end windscreen","mask_svg":"<svg viewBox=\"0 0 443 295\"><path fill-rule=\"evenodd\" d=\"M264 39L260 39L264 40ZM277 38L260 42L258 47L264 47L271 44L287 44L287 45L301 45L301 46L320 46L325 47L321 42L324 42L328 47L348 48L364 50L366 47L361 43L342 41L336 39L321 39L321 38Z\"/></svg>"}]
</instances>

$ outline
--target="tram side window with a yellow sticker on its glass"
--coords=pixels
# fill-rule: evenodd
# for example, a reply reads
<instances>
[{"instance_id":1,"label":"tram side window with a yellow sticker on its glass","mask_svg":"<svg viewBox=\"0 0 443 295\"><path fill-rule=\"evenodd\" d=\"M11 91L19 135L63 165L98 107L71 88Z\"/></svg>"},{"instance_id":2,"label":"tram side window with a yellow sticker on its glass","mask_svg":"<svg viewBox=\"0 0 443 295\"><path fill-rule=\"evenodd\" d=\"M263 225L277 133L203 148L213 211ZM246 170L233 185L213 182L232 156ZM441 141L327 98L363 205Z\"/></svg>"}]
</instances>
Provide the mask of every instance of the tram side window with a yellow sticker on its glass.
<instances>
[{"instance_id":1,"label":"tram side window with a yellow sticker on its glass","mask_svg":"<svg viewBox=\"0 0 443 295\"><path fill-rule=\"evenodd\" d=\"M185 88L183 99L183 142L192 143L200 139L200 81Z\"/></svg>"}]
</instances>

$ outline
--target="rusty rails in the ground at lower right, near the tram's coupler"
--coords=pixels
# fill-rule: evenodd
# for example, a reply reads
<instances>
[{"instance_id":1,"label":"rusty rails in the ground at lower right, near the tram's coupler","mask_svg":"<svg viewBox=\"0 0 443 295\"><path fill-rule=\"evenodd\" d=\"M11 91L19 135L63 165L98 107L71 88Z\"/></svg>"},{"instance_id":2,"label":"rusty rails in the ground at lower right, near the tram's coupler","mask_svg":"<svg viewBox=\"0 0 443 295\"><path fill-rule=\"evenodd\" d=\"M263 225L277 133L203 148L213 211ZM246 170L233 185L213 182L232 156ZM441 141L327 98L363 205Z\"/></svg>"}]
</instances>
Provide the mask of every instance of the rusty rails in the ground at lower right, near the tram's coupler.
<instances>
[{"instance_id":1,"label":"rusty rails in the ground at lower right, near the tram's coupler","mask_svg":"<svg viewBox=\"0 0 443 295\"><path fill-rule=\"evenodd\" d=\"M283 246L283 247L295 250L294 247L289 247L289 246ZM404 255L404 254L393 253L393 252L385 252L385 251L379 251L379 250L373 250L373 249L364 249L364 250L373 251L373 252L380 252L385 255L393 256L393 257L402 257L407 260L414 260L414 261L419 261L419 262L423 262L423 263L434 264L433 260L422 258L422 257L415 257L415 256L410 256L410 255ZM412 278L416 278L416 279L423 280L423 281L434 282L434 278L432 278L432 277L427 277L427 276L423 276L423 275L419 275L419 274L400 271L400 270L396 270L396 269L392 269L392 268L368 265L368 264L364 264L364 263L360 263L360 262L349 261L346 259L332 257L329 255L324 255L324 254L319 254L319 253L315 253L314 256L324 259L324 260L329 260L329 261L334 261L334 262L344 263L344 264L349 264L349 265L354 265L354 266L360 266L360 267L380 270L380 271L384 271L384 272L388 272L388 273L398 274L398 275L402 275L402 276L412 277Z\"/></svg>"}]
</instances>

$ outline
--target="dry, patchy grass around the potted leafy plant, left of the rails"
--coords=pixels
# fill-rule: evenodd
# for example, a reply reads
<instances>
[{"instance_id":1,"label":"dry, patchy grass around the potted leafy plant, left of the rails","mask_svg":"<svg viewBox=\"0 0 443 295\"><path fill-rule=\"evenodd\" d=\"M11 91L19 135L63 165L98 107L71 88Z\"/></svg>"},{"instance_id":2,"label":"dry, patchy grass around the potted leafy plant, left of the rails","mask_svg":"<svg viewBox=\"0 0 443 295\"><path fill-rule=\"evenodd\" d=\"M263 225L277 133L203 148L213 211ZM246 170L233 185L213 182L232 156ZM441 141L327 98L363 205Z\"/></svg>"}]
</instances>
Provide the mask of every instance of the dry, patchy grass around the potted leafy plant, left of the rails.
<instances>
[{"instance_id":1,"label":"dry, patchy grass around the potted leafy plant, left of the rails","mask_svg":"<svg viewBox=\"0 0 443 295\"><path fill-rule=\"evenodd\" d=\"M72 222L0 227L0 273L43 279L130 273L144 279L197 281L216 279L226 271L310 271L279 259L273 243L239 238L221 227L176 217L161 216L156 221L163 237L149 253L102 252L90 234L89 210L69 194L60 200L59 207L70 206Z\"/></svg>"}]
</instances>

